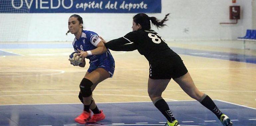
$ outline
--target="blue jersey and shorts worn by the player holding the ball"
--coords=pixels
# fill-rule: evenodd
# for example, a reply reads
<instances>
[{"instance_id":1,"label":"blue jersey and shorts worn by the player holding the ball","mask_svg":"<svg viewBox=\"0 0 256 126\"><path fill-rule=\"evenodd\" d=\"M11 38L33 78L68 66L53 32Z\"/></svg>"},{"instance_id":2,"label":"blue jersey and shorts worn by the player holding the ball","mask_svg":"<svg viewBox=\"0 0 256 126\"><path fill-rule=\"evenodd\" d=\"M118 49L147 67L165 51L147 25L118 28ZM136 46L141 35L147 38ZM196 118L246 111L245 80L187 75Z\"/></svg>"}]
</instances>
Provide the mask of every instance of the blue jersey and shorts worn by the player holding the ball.
<instances>
[{"instance_id":1,"label":"blue jersey and shorts worn by the player holding the ball","mask_svg":"<svg viewBox=\"0 0 256 126\"><path fill-rule=\"evenodd\" d=\"M93 50L97 48L96 46L100 41L101 39L97 33L82 30L81 37L78 40L76 38L74 39L73 47L75 51L77 51L77 49L81 51ZM115 61L108 49L106 53L91 55L86 58L90 60L90 67L87 70L89 73L97 68L103 68L111 75L110 77L113 76L115 71Z\"/></svg>"}]
</instances>

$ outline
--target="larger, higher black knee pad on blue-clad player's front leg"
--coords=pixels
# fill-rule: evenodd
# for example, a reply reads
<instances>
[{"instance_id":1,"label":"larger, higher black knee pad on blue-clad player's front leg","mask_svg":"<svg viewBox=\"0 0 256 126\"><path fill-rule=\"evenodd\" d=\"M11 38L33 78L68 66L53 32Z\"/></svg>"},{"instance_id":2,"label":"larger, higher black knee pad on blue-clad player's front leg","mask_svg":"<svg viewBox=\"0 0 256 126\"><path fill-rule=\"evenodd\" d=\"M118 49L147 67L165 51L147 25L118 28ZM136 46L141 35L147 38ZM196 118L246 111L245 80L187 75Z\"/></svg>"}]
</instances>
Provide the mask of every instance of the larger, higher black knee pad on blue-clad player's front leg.
<instances>
[{"instance_id":1,"label":"larger, higher black knee pad on blue-clad player's front leg","mask_svg":"<svg viewBox=\"0 0 256 126\"><path fill-rule=\"evenodd\" d=\"M92 94L91 92L91 86L92 82L86 78L83 78L83 80L80 83L80 92L83 97L88 97Z\"/></svg>"}]
</instances>

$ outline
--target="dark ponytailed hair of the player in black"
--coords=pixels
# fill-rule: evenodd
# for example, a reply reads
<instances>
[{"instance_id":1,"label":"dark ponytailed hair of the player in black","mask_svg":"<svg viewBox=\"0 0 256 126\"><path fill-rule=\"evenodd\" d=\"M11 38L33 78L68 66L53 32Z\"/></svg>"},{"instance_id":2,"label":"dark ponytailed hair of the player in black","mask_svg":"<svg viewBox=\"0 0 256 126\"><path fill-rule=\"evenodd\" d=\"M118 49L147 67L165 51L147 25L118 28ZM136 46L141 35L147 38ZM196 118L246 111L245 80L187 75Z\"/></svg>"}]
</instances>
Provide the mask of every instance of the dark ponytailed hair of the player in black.
<instances>
[{"instance_id":1,"label":"dark ponytailed hair of the player in black","mask_svg":"<svg viewBox=\"0 0 256 126\"><path fill-rule=\"evenodd\" d=\"M164 26L167 26L164 24L166 21L168 21L167 17L170 15L170 13L165 15L165 18L163 20L158 20L156 17L149 17L148 15L144 13L136 14L133 17L133 21L138 25L140 24L143 30L150 30L150 20L153 25L155 25L158 28L163 28Z\"/></svg>"}]
</instances>

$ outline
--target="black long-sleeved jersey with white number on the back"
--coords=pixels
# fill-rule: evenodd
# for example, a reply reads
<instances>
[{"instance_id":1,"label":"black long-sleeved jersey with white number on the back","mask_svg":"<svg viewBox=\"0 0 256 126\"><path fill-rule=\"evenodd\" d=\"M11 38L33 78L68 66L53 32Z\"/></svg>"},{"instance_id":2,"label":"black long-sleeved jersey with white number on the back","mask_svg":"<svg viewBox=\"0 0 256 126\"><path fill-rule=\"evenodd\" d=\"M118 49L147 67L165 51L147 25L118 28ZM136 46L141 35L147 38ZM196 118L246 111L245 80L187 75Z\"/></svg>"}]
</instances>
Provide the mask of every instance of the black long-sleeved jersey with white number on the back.
<instances>
[{"instance_id":1,"label":"black long-sleeved jersey with white number on the back","mask_svg":"<svg viewBox=\"0 0 256 126\"><path fill-rule=\"evenodd\" d=\"M138 30L105 43L114 51L132 51L137 49L149 62L178 55L165 43L165 40L154 30Z\"/></svg>"}]
</instances>

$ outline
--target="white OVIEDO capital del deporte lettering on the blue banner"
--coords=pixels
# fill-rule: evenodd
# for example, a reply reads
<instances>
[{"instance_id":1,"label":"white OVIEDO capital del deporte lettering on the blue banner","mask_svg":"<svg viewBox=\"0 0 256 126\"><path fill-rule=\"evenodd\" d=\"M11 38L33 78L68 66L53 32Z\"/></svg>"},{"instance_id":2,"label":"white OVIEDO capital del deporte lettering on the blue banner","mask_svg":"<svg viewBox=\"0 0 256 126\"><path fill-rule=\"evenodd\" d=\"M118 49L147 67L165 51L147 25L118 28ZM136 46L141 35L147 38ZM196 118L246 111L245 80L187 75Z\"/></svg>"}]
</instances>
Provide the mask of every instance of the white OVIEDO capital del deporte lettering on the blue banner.
<instances>
[{"instance_id":1,"label":"white OVIEDO capital del deporte lettering on the blue banner","mask_svg":"<svg viewBox=\"0 0 256 126\"><path fill-rule=\"evenodd\" d=\"M73 4L74 4L73 1L74 0L12 0L12 7L15 9L20 9L23 6L26 6L26 8L30 9L32 5L35 5L32 8L58 9L60 7L63 7L64 9L70 9L73 7ZM131 9L147 9L148 8L148 5L143 1L140 3L125 3L125 1L122 1L122 3L119 6L117 1L114 1L114 2L108 1L105 5L103 5L103 1L99 1L99 2L89 1L84 3L76 3L74 6L76 9L82 8L83 10L86 10L87 8L88 9L105 8L105 9L115 9L115 10L128 9L130 11Z\"/></svg>"}]
</instances>

